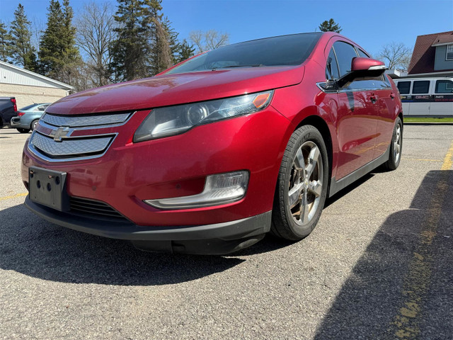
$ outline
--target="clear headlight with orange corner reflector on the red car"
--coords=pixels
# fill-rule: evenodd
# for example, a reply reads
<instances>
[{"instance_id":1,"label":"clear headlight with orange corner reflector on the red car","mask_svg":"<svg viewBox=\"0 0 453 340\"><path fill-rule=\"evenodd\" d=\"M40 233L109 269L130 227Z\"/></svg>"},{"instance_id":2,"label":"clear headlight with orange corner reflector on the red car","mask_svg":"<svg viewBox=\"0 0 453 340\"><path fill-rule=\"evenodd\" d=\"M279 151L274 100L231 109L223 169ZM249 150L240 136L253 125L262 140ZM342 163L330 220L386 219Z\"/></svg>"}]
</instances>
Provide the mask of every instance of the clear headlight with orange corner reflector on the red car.
<instances>
[{"instance_id":1,"label":"clear headlight with orange corner reflector on the red car","mask_svg":"<svg viewBox=\"0 0 453 340\"><path fill-rule=\"evenodd\" d=\"M154 108L134 134L134 142L178 135L194 126L246 115L269 105L273 91L204 101L202 103Z\"/></svg>"}]
</instances>

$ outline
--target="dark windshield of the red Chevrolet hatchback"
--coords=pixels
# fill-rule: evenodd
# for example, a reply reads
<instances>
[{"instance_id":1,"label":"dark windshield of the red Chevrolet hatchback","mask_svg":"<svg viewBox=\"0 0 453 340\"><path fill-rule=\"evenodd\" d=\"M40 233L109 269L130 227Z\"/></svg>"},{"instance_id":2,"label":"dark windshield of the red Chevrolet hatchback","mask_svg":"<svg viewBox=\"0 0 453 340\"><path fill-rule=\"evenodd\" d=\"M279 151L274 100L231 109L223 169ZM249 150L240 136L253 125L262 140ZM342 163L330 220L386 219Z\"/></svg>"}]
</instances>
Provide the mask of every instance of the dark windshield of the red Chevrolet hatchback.
<instances>
[{"instance_id":1,"label":"dark windshield of the red Chevrolet hatchback","mask_svg":"<svg viewBox=\"0 0 453 340\"><path fill-rule=\"evenodd\" d=\"M322 33L282 35L239 42L199 55L166 74L206 71L229 67L299 65L309 57Z\"/></svg>"}]
</instances>

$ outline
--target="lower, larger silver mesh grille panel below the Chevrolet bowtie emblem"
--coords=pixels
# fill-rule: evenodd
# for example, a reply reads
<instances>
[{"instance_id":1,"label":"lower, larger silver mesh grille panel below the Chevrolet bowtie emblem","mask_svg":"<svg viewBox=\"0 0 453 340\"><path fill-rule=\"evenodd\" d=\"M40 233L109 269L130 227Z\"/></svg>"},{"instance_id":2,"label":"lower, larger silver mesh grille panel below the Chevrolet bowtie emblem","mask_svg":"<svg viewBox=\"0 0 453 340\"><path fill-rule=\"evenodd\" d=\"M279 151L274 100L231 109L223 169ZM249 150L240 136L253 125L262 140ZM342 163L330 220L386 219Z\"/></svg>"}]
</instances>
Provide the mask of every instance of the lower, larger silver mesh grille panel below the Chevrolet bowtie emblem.
<instances>
[{"instance_id":1,"label":"lower, larger silver mesh grille panel below the Chevrolet bowtie emblem","mask_svg":"<svg viewBox=\"0 0 453 340\"><path fill-rule=\"evenodd\" d=\"M55 142L52 137L33 132L30 143L35 149L49 157L61 158L101 153L108 147L113 138L113 136L89 139L72 138L62 140L62 142Z\"/></svg>"}]
</instances>

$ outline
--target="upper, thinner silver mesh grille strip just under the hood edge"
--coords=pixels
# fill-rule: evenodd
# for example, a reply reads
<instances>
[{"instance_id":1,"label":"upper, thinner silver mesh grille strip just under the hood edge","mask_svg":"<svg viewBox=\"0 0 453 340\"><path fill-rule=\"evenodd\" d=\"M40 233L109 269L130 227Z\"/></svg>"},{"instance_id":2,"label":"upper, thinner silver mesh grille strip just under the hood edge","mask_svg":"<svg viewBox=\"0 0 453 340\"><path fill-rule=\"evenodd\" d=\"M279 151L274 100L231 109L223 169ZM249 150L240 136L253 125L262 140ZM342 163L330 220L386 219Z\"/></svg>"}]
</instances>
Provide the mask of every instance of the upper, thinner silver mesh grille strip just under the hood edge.
<instances>
[{"instance_id":1,"label":"upper, thinner silver mesh grille strip just under the hood edge","mask_svg":"<svg viewBox=\"0 0 453 340\"><path fill-rule=\"evenodd\" d=\"M52 115L45 113L41 120L54 126L80 128L82 126L112 125L124 123L131 113L115 113L111 115Z\"/></svg>"}]
</instances>

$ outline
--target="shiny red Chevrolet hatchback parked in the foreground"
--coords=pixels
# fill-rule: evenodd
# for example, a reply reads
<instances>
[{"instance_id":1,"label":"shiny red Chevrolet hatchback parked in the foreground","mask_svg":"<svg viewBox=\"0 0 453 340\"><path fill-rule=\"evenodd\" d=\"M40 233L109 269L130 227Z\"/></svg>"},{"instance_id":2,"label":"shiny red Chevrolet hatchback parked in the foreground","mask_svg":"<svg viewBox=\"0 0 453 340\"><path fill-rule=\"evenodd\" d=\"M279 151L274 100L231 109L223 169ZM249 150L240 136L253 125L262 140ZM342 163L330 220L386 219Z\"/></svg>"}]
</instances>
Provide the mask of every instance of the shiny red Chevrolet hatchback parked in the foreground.
<instances>
[{"instance_id":1,"label":"shiny red Chevrolet hatchback parked in the foreground","mask_svg":"<svg viewBox=\"0 0 453 340\"><path fill-rule=\"evenodd\" d=\"M328 196L399 164L401 101L384 69L342 35L303 33L62 98L24 147L25 205L149 251L302 239Z\"/></svg>"}]
</instances>

